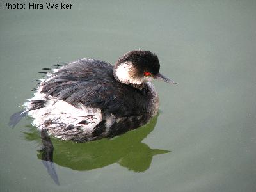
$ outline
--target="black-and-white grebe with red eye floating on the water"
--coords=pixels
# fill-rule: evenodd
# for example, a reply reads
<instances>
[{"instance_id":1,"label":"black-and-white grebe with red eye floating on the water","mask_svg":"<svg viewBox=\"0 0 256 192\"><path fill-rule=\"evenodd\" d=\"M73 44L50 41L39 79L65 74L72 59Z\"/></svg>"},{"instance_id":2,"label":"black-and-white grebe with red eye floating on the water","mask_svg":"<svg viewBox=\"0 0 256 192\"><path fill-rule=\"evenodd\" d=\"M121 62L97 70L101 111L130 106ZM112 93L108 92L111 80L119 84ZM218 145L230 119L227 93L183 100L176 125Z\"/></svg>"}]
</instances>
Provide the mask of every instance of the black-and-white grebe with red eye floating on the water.
<instances>
[{"instance_id":1,"label":"black-and-white grebe with red eye floating on the water","mask_svg":"<svg viewBox=\"0 0 256 192\"><path fill-rule=\"evenodd\" d=\"M159 73L150 51L131 51L115 64L81 59L48 74L22 114L56 138L77 142L110 138L144 125L157 114L159 99L152 79Z\"/></svg>"}]
</instances>

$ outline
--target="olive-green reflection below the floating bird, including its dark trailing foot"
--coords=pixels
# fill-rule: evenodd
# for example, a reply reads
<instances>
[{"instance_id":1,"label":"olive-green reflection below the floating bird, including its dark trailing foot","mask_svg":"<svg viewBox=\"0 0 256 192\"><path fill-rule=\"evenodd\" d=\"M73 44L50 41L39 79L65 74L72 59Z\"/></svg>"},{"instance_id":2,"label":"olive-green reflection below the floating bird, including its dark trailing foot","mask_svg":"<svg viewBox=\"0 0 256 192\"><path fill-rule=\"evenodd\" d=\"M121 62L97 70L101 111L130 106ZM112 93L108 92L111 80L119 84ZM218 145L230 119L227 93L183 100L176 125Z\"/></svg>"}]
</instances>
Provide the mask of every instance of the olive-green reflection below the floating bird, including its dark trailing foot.
<instances>
[{"instance_id":1,"label":"olive-green reflection below the floating bird, including its dark trailing foot","mask_svg":"<svg viewBox=\"0 0 256 192\"><path fill-rule=\"evenodd\" d=\"M43 147L42 150L39 150L38 159L42 159L49 175L56 184L58 184L58 176L54 169L54 163L81 171L118 163L128 170L144 172L150 167L154 155L170 152L152 149L147 144L142 143L142 140L153 131L157 116L152 118L147 125L134 131L129 131L110 140L102 139L88 143L50 139L47 133L42 131ZM31 132L25 132L25 134L26 140L40 140L35 128L31 129Z\"/></svg>"}]
</instances>

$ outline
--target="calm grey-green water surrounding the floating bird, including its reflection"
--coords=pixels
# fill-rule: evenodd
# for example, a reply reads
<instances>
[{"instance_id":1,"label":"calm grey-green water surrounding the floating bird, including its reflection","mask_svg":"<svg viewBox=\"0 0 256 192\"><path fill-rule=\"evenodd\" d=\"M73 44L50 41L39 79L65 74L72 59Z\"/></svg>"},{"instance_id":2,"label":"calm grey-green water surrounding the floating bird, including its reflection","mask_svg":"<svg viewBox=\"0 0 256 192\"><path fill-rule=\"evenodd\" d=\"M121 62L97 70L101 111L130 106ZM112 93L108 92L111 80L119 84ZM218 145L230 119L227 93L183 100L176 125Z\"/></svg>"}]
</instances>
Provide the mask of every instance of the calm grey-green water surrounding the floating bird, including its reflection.
<instances>
[{"instance_id":1,"label":"calm grey-green water surrounding the floating bird, including its reflection","mask_svg":"<svg viewBox=\"0 0 256 192\"><path fill-rule=\"evenodd\" d=\"M256 191L256 1L62 2L72 9L0 9L0 191ZM31 119L11 129L10 115L42 68L132 49L156 52L179 85L154 82L159 116L136 131L52 140L57 186Z\"/></svg>"}]
</instances>

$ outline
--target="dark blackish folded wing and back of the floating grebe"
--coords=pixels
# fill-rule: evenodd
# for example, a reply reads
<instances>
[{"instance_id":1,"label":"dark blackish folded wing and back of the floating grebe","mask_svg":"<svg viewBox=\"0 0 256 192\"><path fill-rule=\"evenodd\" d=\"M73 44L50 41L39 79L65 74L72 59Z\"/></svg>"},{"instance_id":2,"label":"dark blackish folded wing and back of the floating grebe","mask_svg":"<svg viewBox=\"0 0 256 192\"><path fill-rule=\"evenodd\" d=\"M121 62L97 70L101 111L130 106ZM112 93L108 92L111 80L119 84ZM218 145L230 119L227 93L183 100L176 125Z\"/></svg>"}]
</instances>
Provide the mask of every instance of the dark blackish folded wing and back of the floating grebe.
<instances>
[{"instance_id":1,"label":"dark blackish folded wing and back of the floating grebe","mask_svg":"<svg viewBox=\"0 0 256 192\"><path fill-rule=\"evenodd\" d=\"M82 59L69 63L42 83L42 93L76 106L100 108L116 116L140 116L147 110L143 92L113 76L113 65ZM139 100L141 102L134 102Z\"/></svg>"}]
</instances>

